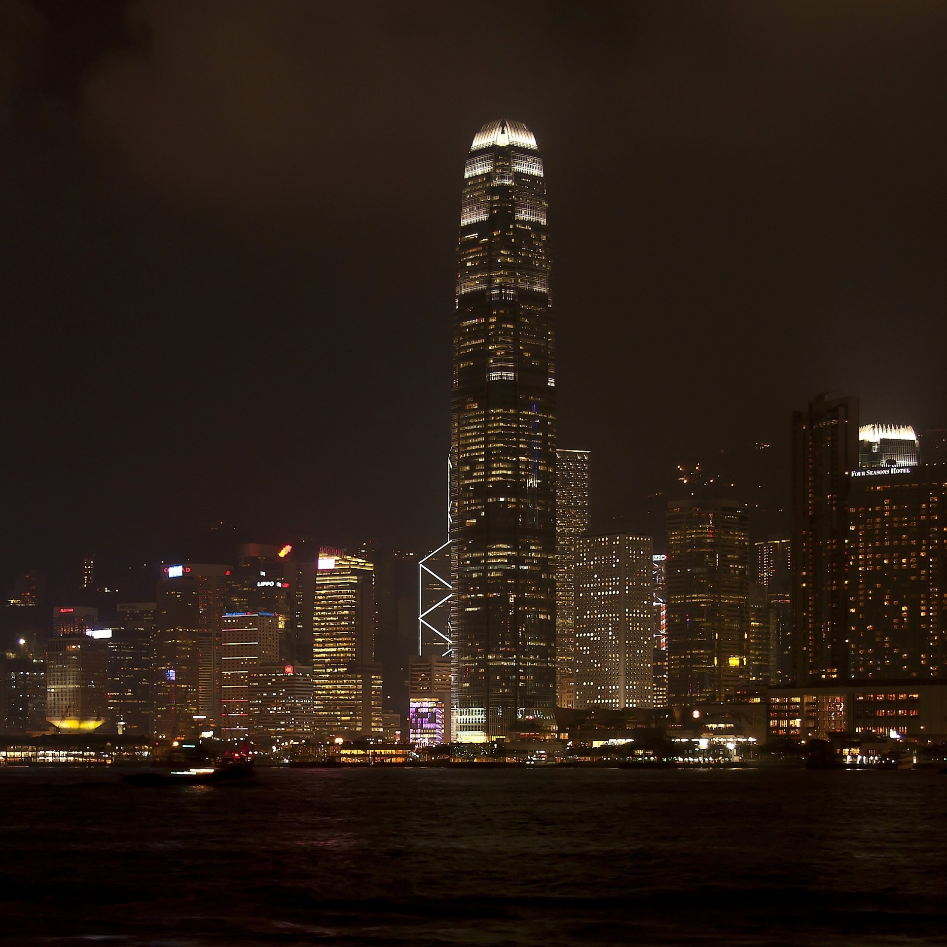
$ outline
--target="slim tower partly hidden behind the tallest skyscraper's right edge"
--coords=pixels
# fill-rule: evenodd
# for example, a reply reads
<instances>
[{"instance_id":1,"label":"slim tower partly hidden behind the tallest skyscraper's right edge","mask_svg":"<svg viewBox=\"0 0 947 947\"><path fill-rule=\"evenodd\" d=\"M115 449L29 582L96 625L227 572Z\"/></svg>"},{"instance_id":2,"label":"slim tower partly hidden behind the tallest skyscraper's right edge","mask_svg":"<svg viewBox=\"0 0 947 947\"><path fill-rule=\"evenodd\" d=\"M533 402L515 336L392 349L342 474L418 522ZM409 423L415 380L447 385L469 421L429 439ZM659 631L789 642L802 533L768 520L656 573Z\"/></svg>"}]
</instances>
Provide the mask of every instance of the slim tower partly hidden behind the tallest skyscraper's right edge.
<instances>
[{"instance_id":1,"label":"slim tower partly hidden behind the tallest skyscraper's right edge","mask_svg":"<svg viewBox=\"0 0 947 947\"><path fill-rule=\"evenodd\" d=\"M576 706L576 544L589 527L589 452L556 451L556 703Z\"/></svg>"}]
</instances>

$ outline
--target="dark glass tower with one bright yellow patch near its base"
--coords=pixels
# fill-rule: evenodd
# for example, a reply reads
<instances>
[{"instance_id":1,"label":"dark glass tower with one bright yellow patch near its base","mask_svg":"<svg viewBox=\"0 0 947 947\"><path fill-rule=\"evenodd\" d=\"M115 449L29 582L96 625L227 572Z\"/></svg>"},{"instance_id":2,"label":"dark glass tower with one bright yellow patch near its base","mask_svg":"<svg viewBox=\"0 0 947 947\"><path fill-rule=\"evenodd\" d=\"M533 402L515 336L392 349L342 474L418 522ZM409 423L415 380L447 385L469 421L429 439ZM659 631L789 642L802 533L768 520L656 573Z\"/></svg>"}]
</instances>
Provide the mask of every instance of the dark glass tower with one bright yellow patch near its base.
<instances>
[{"instance_id":1,"label":"dark glass tower with one bright yellow patch near its base","mask_svg":"<svg viewBox=\"0 0 947 947\"><path fill-rule=\"evenodd\" d=\"M720 701L746 679L750 535L745 507L668 504L668 700Z\"/></svg>"}]
</instances>

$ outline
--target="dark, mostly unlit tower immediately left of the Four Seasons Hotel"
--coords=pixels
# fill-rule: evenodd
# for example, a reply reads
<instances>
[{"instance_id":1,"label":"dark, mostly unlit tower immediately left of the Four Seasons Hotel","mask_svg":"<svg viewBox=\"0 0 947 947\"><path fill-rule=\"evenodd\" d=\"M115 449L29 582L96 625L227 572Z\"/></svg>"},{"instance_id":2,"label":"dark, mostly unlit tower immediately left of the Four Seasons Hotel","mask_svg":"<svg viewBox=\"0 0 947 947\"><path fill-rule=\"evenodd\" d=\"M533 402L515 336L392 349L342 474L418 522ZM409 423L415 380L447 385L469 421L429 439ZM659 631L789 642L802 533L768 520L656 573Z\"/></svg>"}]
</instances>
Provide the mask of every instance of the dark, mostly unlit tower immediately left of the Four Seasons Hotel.
<instances>
[{"instance_id":1,"label":"dark, mostly unlit tower immediately left of the Four Seasons Hotel","mask_svg":"<svg viewBox=\"0 0 947 947\"><path fill-rule=\"evenodd\" d=\"M849 676L845 580L858 399L820 396L793 415L795 681Z\"/></svg>"}]
</instances>

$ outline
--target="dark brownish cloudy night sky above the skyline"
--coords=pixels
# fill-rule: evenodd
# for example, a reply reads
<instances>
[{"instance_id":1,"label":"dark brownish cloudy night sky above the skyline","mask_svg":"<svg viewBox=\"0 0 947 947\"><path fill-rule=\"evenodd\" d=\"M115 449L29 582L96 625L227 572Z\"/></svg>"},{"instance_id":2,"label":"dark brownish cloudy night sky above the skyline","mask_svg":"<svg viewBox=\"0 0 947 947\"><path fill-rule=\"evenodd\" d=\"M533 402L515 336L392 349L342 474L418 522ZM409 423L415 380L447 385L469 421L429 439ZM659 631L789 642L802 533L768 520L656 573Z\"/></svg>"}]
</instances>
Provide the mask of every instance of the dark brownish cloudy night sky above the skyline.
<instances>
[{"instance_id":1,"label":"dark brownish cloudy night sky above the skyline","mask_svg":"<svg viewBox=\"0 0 947 947\"><path fill-rule=\"evenodd\" d=\"M545 159L597 522L816 393L947 425L943 3L0 0L0 579L444 530L463 162Z\"/></svg>"}]
</instances>

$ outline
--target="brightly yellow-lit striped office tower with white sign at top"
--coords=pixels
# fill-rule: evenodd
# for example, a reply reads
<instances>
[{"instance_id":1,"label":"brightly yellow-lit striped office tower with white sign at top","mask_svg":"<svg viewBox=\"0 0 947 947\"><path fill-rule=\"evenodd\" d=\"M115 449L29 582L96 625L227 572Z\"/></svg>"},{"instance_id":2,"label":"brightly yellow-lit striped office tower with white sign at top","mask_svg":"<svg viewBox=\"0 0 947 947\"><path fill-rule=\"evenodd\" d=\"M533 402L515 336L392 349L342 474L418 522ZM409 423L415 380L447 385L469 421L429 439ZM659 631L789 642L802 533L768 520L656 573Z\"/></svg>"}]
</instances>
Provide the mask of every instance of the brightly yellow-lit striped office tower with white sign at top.
<instances>
[{"instance_id":1,"label":"brightly yellow-lit striped office tower with white sign at top","mask_svg":"<svg viewBox=\"0 0 947 947\"><path fill-rule=\"evenodd\" d=\"M313 726L334 738L382 733L375 663L372 563L342 550L319 555L313 606Z\"/></svg>"}]
</instances>

